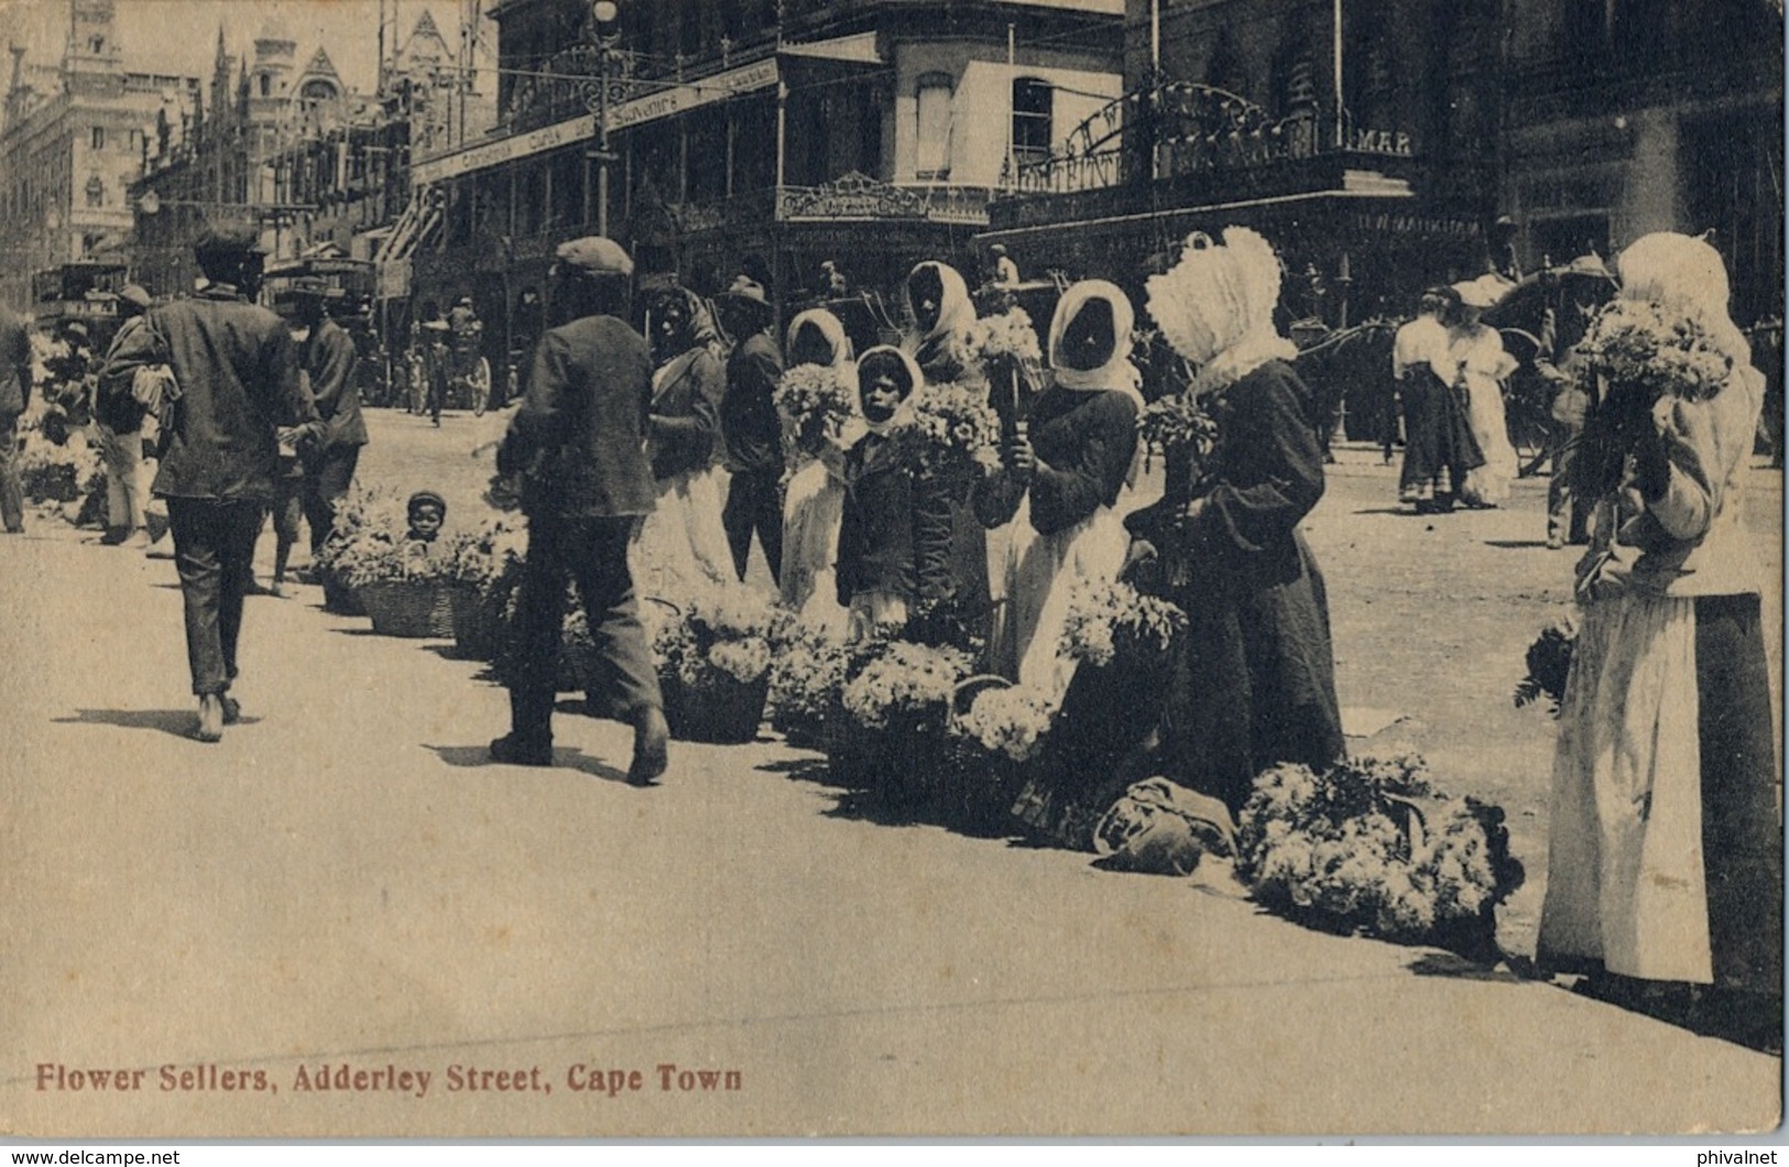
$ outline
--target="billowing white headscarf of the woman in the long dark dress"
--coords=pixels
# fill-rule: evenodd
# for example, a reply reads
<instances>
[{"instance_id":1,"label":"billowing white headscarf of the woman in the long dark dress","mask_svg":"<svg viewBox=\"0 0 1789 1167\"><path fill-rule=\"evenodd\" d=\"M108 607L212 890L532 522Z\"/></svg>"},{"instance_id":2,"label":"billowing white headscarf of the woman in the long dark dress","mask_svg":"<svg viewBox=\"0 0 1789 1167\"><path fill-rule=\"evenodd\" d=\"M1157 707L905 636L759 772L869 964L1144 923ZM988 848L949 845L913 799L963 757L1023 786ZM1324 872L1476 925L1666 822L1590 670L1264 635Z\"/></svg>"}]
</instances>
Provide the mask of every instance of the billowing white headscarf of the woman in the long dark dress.
<instances>
[{"instance_id":1,"label":"billowing white headscarf of the woman in the long dark dress","mask_svg":"<svg viewBox=\"0 0 1789 1167\"><path fill-rule=\"evenodd\" d=\"M1225 227L1224 243L1195 231L1179 263L1150 276L1149 315L1174 351L1199 367L1193 390L1240 381L1270 360L1292 360L1297 345L1274 331L1279 256L1249 227Z\"/></svg>"}]
</instances>

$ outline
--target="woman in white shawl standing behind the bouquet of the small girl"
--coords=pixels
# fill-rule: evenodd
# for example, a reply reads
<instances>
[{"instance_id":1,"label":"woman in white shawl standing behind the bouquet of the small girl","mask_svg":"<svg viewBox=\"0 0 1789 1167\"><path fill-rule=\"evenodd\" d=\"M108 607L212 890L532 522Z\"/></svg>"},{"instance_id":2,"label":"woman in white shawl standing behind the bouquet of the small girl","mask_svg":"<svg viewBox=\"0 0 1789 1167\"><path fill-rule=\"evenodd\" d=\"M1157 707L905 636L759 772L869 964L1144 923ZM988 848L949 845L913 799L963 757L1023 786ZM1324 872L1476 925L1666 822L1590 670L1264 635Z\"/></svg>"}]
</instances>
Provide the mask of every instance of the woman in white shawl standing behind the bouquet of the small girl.
<instances>
[{"instance_id":1,"label":"woman in white shawl standing behind the bouquet of the small girl","mask_svg":"<svg viewBox=\"0 0 1789 1167\"><path fill-rule=\"evenodd\" d=\"M957 385L988 392L988 376L970 356L968 333L975 302L962 274L948 263L927 260L907 274L907 311L914 329L902 342L923 376L923 385ZM973 481L934 483L950 499L950 578L955 589L928 600L950 601L959 619L980 621L989 601L988 537L970 508Z\"/></svg>"}]
</instances>

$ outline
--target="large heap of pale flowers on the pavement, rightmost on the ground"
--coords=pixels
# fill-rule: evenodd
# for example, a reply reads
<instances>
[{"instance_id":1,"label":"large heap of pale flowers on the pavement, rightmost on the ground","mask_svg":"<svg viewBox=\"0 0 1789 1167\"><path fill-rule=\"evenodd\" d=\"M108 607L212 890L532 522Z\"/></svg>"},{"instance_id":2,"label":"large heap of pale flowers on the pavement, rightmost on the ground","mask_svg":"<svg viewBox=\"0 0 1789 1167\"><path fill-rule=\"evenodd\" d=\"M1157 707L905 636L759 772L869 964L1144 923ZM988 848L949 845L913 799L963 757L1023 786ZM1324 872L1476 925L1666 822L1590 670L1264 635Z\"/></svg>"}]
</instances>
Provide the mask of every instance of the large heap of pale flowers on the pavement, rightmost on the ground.
<instances>
[{"instance_id":1,"label":"large heap of pale flowers on the pavement, rightmost on the ground","mask_svg":"<svg viewBox=\"0 0 1789 1167\"><path fill-rule=\"evenodd\" d=\"M1422 759L1349 759L1254 780L1236 873L1267 909L1329 931L1488 952L1522 884L1503 809L1437 793Z\"/></svg>"}]
</instances>

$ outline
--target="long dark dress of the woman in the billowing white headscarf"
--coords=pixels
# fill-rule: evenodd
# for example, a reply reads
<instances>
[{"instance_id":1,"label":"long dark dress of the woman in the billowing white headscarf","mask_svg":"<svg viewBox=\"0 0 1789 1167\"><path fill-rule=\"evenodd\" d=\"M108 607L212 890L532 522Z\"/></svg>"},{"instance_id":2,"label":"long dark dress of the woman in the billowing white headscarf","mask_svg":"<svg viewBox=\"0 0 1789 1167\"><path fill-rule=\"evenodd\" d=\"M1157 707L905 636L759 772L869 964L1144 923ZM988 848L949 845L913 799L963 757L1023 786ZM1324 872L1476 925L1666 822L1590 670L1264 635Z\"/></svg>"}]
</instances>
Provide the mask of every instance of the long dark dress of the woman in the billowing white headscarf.
<instances>
[{"instance_id":1,"label":"long dark dress of the woman in the billowing white headscarf","mask_svg":"<svg viewBox=\"0 0 1789 1167\"><path fill-rule=\"evenodd\" d=\"M1270 360L1208 408L1218 440L1199 480L1177 473L1129 524L1161 551L1159 587L1188 616L1163 694L1163 770L1236 813L1261 770L1324 768L1345 745L1324 578L1299 533L1324 492L1311 392Z\"/></svg>"}]
</instances>

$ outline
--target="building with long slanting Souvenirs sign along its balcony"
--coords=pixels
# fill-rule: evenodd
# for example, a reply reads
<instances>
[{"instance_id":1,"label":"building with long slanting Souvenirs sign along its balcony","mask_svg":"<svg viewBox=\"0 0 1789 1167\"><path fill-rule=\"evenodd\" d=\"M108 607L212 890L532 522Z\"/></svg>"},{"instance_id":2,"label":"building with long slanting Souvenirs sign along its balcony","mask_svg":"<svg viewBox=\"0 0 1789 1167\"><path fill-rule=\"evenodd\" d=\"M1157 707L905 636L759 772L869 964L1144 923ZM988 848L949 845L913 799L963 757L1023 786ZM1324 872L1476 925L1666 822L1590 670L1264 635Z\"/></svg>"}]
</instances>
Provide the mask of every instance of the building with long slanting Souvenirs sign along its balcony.
<instances>
[{"instance_id":1,"label":"building with long slanting Souvenirs sign along its balcony","mask_svg":"<svg viewBox=\"0 0 1789 1167\"><path fill-rule=\"evenodd\" d=\"M921 258L971 265L1018 163L1122 84L1122 0L617 7L612 36L580 0L490 9L499 125L419 156L388 252L419 297L501 317L598 229L646 274L714 292L751 268L782 301L825 260L884 290Z\"/></svg>"}]
</instances>

